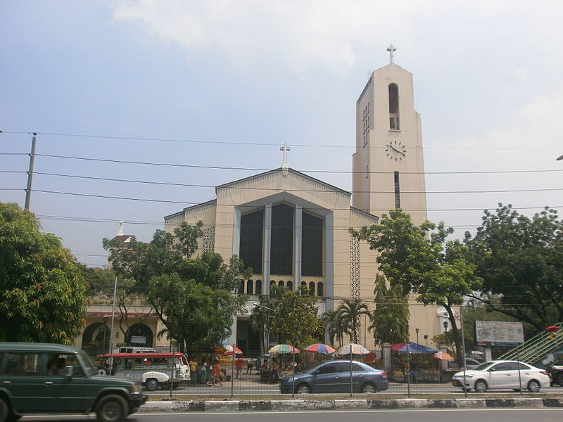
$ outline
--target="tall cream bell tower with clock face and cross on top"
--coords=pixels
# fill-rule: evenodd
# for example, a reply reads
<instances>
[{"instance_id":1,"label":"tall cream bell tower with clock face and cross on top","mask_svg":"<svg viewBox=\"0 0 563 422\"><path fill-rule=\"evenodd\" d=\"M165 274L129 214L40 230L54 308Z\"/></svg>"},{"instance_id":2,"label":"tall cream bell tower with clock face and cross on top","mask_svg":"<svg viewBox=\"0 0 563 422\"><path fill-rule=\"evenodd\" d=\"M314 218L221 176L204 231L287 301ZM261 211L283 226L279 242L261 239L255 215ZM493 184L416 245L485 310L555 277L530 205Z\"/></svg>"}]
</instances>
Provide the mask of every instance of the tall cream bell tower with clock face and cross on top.
<instances>
[{"instance_id":1,"label":"tall cream bell tower with clock face and cross on top","mask_svg":"<svg viewBox=\"0 0 563 422\"><path fill-rule=\"evenodd\" d=\"M415 224L426 220L420 115L412 73L391 63L375 70L356 101L352 205L373 215L401 208Z\"/></svg>"}]
</instances>

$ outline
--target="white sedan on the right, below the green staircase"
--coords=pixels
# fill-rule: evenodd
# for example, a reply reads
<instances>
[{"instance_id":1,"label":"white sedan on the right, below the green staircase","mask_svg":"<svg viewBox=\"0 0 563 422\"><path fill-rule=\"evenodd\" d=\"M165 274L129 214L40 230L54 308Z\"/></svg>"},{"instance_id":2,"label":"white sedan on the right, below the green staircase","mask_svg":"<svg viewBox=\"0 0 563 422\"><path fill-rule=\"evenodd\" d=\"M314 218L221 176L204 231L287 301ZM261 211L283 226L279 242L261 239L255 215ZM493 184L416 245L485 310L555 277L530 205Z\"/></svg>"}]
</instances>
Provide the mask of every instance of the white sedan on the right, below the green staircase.
<instances>
[{"instance_id":1,"label":"white sedan on the right, below the green staircase","mask_svg":"<svg viewBox=\"0 0 563 422\"><path fill-rule=\"evenodd\" d=\"M476 392L493 389L519 391L524 388L538 392L543 385L550 385L550 377L547 371L524 362L491 361L465 371L465 379L463 372L455 373L452 383L467 391L474 389Z\"/></svg>"}]
</instances>

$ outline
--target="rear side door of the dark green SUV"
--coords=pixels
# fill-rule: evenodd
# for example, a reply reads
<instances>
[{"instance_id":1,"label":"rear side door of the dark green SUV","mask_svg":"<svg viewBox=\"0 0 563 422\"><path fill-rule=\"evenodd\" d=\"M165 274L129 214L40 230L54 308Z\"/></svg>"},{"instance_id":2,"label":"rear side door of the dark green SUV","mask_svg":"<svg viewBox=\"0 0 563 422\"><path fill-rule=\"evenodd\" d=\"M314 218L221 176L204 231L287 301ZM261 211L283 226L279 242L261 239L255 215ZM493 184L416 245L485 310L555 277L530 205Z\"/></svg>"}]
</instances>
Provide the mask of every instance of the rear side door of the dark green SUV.
<instances>
[{"instance_id":1,"label":"rear side door of the dark green SUV","mask_svg":"<svg viewBox=\"0 0 563 422\"><path fill-rule=\"evenodd\" d=\"M10 392L13 407L22 412L49 409L52 385L42 371L44 355L38 352L8 352L0 374L2 386Z\"/></svg>"}]
</instances>

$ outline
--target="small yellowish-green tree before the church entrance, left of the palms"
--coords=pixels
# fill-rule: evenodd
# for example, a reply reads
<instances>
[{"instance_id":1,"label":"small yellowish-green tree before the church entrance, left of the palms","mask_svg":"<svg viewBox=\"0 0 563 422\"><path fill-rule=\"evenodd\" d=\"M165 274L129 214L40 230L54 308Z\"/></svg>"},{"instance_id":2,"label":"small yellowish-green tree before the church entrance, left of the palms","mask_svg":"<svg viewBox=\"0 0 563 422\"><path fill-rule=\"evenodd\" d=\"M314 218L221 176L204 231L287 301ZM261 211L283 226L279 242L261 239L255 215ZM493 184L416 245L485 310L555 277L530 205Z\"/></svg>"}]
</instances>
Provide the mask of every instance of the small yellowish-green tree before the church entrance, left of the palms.
<instances>
[{"instance_id":1,"label":"small yellowish-green tree before the church entrance, left of the palms","mask_svg":"<svg viewBox=\"0 0 563 422\"><path fill-rule=\"evenodd\" d=\"M322 324L317 318L317 300L305 293L286 290L279 298L276 312L272 315L271 330L279 335L281 341L297 344L302 338L319 338L322 334Z\"/></svg>"}]
</instances>

